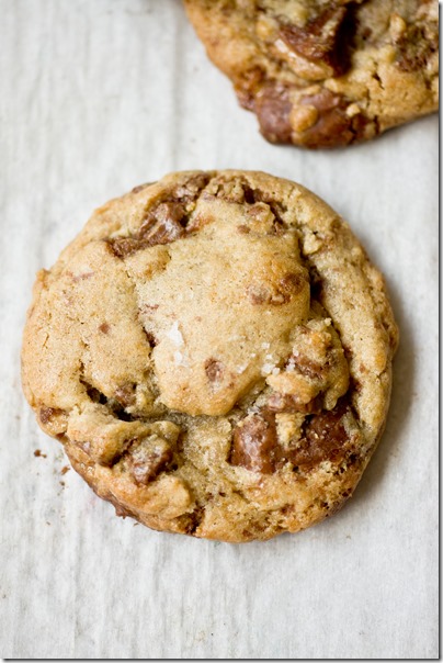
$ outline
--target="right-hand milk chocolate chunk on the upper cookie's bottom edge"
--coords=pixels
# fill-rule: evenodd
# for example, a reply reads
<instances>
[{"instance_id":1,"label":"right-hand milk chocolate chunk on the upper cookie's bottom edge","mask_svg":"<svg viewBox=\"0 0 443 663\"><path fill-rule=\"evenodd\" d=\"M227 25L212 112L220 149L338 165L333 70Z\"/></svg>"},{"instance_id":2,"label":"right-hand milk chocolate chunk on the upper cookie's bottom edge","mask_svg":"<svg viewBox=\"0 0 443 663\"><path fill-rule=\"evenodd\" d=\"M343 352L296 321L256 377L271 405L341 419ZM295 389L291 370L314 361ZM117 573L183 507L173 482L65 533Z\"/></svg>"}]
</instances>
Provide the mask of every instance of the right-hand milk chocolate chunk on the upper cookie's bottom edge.
<instances>
[{"instance_id":1,"label":"right-hand milk chocolate chunk on the upper cookie's bottom edge","mask_svg":"<svg viewBox=\"0 0 443 663\"><path fill-rule=\"evenodd\" d=\"M345 112L348 102L343 97L323 88L317 94L303 97L299 103L310 105L318 111L316 122L300 134L300 145L338 147L363 137L367 120L362 113L348 115Z\"/></svg>"}]
</instances>

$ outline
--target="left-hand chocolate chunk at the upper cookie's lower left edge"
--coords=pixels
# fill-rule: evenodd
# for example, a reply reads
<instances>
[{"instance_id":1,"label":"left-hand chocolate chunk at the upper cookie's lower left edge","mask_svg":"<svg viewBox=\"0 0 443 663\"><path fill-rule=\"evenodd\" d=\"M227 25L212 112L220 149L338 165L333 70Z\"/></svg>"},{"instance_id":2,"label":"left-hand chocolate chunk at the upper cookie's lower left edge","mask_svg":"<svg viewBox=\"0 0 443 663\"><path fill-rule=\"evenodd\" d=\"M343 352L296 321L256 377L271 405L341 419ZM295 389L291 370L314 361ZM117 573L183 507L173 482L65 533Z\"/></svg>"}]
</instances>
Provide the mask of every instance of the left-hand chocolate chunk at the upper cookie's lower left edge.
<instances>
[{"instance_id":1,"label":"left-hand chocolate chunk at the upper cookie's lower left edge","mask_svg":"<svg viewBox=\"0 0 443 663\"><path fill-rule=\"evenodd\" d=\"M260 131L270 143L291 143L293 104L287 88L270 83L255 98L254 110Z\"/></svg>"}]
</instances>

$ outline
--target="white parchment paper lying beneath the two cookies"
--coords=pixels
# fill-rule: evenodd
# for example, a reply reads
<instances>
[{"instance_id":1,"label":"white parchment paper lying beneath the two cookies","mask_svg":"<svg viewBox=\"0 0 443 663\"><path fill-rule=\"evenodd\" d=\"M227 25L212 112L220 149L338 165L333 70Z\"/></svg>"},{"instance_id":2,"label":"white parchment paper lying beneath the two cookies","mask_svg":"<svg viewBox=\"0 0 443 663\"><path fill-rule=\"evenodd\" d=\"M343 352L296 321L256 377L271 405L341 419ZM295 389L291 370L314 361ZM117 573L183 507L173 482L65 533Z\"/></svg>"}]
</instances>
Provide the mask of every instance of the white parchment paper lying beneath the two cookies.
<instances>
[{"instance_id":1,"label":"white parchment paper lying beneath the two cookies","mask_svg":"<svg viewBox=\"0 0 443 663\"><path fill-rule=\"evenodd\" d=\"M276 147L178 0L0 0L0 654L435 658L438 117L345 150ZM401 330L386 432L353 499L243 546L116 518L63 473L20 384L35 272L93 207L171 170L227 167L296 180L342 214Z\"/></svg>"}]
</instances>

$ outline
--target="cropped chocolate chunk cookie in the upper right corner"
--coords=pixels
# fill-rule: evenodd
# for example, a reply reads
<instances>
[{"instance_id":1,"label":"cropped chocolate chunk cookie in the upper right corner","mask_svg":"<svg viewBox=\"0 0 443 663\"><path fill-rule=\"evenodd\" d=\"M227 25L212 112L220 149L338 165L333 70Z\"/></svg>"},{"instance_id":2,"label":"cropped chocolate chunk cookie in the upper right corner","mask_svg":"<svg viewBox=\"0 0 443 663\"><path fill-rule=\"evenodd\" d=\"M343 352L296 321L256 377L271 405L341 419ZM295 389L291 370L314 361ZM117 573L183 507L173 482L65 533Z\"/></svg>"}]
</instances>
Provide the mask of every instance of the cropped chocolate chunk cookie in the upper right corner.
<instances>
[{"instance_id":1,"label":"cropped chocolate chunk cookie in the upper right corner","mask_svg":"<svg viewBox=\"0 0 443 663\"><path fill-rule=\"evenodd\" d=\"M271 143L337 147L438 109L436 0L184 0Z\"/></svg>"}]
</instances>

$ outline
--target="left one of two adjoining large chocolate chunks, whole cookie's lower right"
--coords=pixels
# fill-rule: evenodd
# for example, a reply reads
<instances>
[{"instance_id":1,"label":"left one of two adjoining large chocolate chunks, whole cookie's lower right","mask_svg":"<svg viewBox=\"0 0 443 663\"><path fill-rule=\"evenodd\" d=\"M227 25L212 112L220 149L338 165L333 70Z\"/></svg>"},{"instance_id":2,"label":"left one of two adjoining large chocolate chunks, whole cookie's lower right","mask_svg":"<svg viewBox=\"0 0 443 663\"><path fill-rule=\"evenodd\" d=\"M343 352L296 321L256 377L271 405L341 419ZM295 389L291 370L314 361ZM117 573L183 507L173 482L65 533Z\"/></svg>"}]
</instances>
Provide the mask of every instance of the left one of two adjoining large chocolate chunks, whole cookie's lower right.
<instances>
[{"instance_id":1,"label":"left one of two adjoining large chocolate chunks, whole cookie's lower right","mask_svg":"<svg viewBox=\"0 0 443 663\"><path fill-rule=\"evenodd\" d=\"M271 474L275 470L277 454L275 416L270 412L249 415L235 429L230 456L232 465Z\"/></svg>"}]
</instances>

